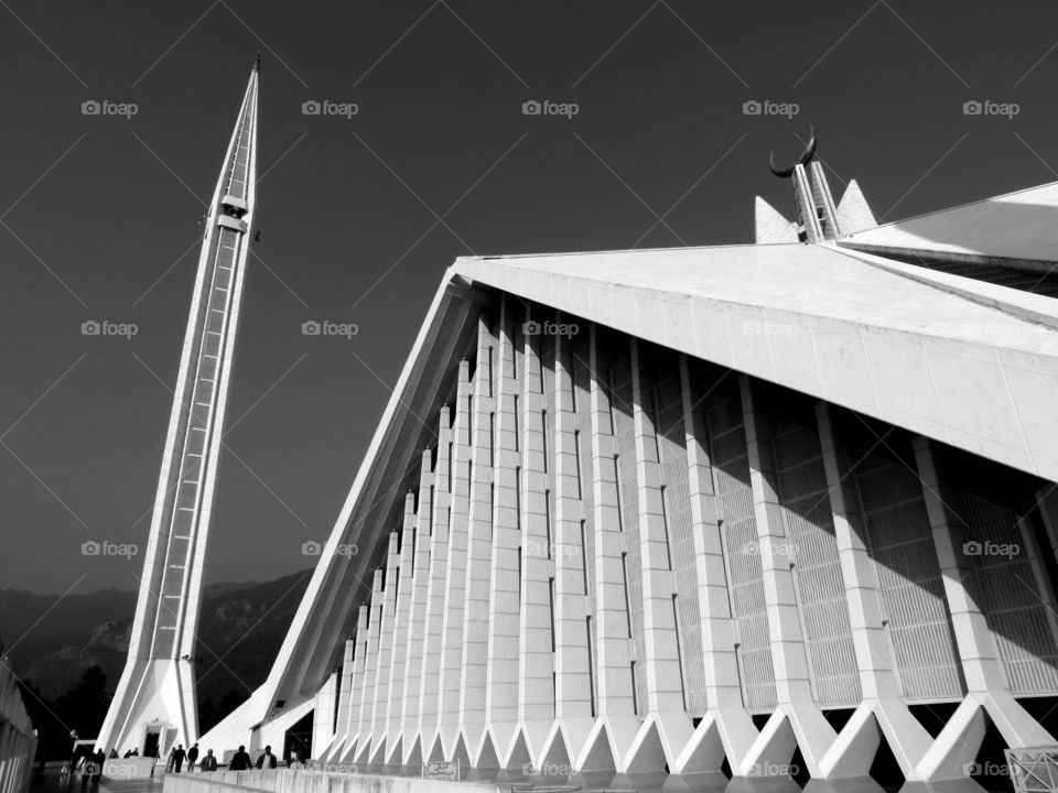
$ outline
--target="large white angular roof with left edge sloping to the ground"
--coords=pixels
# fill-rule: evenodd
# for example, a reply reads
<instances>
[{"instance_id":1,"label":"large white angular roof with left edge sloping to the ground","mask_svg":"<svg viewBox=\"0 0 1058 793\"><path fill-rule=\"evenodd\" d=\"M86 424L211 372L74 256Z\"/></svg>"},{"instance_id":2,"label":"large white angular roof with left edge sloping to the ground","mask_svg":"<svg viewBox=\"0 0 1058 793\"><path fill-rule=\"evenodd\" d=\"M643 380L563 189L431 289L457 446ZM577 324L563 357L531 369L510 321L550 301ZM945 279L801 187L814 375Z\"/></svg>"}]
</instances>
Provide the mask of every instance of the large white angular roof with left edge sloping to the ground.
<instances>
[{"instance_id":1,"label":"large white angular roof with left edge sloping to the ground","mask_svg":"<svg viewBox=\"0 0 1058 793\"><path fill-rule=\"evenodd\" d=\"M495 290L1058 480L1058 304L958 276L932 283L926 272L817 245L456 260L253 713L231 718L273 718L278 700L304 703L330 674L349 609L380 562L335 550L355 542L385 553L379 540L401 519L453 369L473 354L477 312Z\"/></svg>"}]
</instances>

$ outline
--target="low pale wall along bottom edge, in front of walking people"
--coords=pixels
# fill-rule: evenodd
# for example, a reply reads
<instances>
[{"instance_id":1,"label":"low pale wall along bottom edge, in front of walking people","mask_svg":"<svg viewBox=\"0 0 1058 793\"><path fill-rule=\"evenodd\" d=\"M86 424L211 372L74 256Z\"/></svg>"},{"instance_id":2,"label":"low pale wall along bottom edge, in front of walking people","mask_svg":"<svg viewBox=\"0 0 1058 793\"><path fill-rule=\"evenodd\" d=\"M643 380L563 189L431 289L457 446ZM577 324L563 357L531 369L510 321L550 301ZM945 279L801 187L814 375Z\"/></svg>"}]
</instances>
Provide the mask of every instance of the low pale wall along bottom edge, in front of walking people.
<instances>
[{"instance_id":1,"label":"low pale wall along bottom edge, in front of walking people","mask_svg":"<svg viewBox=\"0 0 1058 793\"><path fill-rule=\"evenodd\" d=\"M230 793L233 789L263 793L495 793L486 782L438 782L417 776L374 776L356 773L277 769L165 774L163 793Z\"/></svg>"}]
</instances>

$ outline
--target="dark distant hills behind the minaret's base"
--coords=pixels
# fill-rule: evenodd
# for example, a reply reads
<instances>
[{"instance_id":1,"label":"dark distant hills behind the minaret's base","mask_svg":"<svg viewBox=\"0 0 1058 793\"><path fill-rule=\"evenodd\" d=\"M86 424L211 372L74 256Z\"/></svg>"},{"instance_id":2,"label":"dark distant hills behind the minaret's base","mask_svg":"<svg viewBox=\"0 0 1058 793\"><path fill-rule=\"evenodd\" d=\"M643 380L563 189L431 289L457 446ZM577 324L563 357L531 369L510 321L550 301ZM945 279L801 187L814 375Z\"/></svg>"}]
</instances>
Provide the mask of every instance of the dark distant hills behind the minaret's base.
<instances>
[{"instance_id":1,"label":"dark distant hills behind the minaret's base","mask_svg":"<svg viewBox=\"0 0 1058 793\"><path fill-rule=\"evenodd\" d=\"M311 573L206 587L196 653L203 729L264 682ZM18 675L47 699L72 689L94 665L112 693L134 609L136 593L116 589L66 597L0 589L0 637Z\"/></svg>"}]
</instances>

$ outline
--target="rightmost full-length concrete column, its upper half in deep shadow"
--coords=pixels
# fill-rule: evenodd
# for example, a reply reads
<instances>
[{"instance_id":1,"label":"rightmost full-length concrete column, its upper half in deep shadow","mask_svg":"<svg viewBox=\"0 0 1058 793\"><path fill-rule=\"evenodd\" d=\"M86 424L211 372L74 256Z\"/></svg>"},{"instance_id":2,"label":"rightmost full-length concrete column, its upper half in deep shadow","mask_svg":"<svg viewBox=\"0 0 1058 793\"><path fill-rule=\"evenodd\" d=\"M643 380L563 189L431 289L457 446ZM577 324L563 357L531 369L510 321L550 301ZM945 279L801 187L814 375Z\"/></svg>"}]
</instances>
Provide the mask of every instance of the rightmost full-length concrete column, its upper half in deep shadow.
<instances>
[{"instance_id":1,"label":"rightmost full-length concrete column, its upper half in deep shadow","mask_svg":"<svg viewBox=\"0 0 1058 793\"><path fill-rule=\"evenodd\" d=\"M1006 674L1003 672L992 631L989 630L976 602L973 565L963 553L965 537L944 499L933 443L919 436L913 445L918 477L922 482L929 528L933 534L937 562L944 580L944 595L948 598L956 644L959 647L959 658L967 678L967 691L1005 691Z\"/></svg>"}]
</instances>

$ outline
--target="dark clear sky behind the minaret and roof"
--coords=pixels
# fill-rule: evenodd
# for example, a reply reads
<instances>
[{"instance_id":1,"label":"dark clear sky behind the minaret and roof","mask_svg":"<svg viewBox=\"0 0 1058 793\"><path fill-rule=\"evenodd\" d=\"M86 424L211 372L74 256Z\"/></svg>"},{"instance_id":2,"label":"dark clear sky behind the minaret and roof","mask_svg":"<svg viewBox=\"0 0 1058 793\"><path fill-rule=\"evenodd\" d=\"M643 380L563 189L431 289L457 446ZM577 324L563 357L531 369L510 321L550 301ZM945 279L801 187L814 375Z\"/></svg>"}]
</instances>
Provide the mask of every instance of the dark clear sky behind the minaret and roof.
<instances>
[{"instance_id":1,"label":"dark clear sky behind the minaret and roof","mask_svg":"<svg viewBox=\"0 0 1058 793\"><path fill-rule=\"evenodd\" d=\"M754 195L791 214L768 151L810 122L835 195L856 177L889 219L1051 181L1056 42L1043 1L0 2L0 587L137 586L142 555L82 543L145 546L196 219L258 50L263 235L207 583L309 566L455 257L749 242Z\"/></svg>"}]
</instances>

